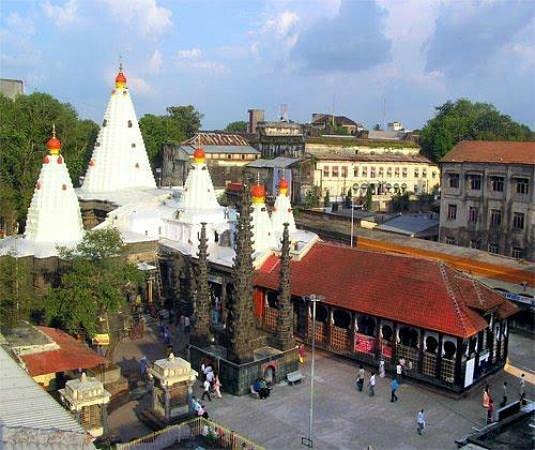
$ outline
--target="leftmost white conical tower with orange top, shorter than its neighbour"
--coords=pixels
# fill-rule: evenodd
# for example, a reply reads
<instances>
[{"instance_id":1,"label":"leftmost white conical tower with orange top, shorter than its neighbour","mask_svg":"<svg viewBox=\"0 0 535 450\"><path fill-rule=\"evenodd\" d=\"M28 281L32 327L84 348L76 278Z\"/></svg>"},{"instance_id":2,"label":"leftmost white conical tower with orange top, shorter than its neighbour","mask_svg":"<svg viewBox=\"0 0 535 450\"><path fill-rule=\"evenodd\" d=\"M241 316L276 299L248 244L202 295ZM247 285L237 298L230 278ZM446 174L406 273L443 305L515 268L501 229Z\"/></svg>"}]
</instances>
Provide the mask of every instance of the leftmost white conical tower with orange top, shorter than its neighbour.
<instances>
[{"instance_id":1,"label":"leftmost white conical tower with orange top, shorter than its neighbour","mask_svg":"<svg viewBox=\"0 0 535 450\"><path fill-rule=\"evenodd\" d=\"M28 241L64 245L80 241L84 231L78 198L60 154L61 142L55 129L52 134L28 209L24 237Z\"/></svg>"}]
</instances>

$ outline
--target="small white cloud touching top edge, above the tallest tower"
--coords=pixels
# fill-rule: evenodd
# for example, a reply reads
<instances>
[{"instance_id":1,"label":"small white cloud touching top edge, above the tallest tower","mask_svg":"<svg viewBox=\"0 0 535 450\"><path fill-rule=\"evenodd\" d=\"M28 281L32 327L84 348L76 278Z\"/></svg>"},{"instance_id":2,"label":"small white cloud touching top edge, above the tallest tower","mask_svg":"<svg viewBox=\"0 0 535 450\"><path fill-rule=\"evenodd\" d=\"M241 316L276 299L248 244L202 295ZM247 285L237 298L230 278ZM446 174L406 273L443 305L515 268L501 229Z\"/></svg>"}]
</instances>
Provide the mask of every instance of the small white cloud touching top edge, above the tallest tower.
<instances>
[{"instance_id":1,"label":"small white cloud touching top edge, above the tallest tower","mask_svg":"<svg viewBox=\"0 0 535 450\"><path fill-rule=\"evenodd\" d=\"M112 15L137 28L141 35L159 36L173 27L169 8L158 6L156 0L105 0Z\"/></svg>"}]
</instances>

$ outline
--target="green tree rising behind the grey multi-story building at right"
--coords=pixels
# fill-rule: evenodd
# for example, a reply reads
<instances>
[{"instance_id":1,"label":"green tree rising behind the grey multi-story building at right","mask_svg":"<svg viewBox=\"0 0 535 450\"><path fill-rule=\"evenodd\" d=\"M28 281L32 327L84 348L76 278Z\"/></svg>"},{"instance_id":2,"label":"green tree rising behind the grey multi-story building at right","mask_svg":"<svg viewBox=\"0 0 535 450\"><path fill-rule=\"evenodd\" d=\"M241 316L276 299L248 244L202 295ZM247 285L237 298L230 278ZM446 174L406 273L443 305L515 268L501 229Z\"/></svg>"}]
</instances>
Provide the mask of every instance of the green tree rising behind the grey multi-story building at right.
<instances>
[{"instance_id":1,"label":"green tree rising behind the grey multi-story building at right","mask_svg":"<svg viewBox=\"0 0 535 450\"><path fill-rule=\"evenodd\" d=\"M488 103L459 99L438 106L422 129L422 152L438 161L462 140L527 141L535 138L526 125L513 121Z\"/></svg>"}]
</instances>

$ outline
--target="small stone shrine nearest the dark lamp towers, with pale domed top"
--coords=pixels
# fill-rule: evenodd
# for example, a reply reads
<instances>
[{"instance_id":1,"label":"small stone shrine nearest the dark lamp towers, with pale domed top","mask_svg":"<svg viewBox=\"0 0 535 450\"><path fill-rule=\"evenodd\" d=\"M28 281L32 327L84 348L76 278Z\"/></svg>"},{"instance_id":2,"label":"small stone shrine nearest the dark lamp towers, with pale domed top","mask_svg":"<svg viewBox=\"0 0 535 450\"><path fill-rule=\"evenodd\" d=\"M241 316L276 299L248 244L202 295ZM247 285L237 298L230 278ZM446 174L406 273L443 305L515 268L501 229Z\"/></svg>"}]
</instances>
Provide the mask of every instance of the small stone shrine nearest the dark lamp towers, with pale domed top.
<instances>
[{"instance_id":1,"label":"small stone shrine nearest the dark lamp towers, with pale domed top","mask_svg":"<svg viewBox=\"0 0 535 450\"><path fill-rule=\"evenodd\" d=\"M152 412L168 423L189 414L192 387L198 376L191 364L171 353L168 358L154 362L151 374Z\"/></svg>"}]
</instances>

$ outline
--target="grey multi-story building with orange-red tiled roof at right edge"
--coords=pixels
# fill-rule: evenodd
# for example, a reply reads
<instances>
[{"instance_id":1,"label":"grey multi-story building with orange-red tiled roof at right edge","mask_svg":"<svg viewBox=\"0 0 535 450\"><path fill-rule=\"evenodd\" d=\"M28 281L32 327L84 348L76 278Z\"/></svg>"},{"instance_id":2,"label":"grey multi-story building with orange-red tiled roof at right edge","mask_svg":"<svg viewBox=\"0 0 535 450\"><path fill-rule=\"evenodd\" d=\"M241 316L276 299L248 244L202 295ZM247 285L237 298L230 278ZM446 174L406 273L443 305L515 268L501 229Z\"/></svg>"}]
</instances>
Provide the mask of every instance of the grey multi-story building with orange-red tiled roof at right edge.
<instances>
[{"instance_id":1,"label":"grey multi-story building with orange-red tiled roof at right edge","mask_svg":"<svg viewBox=\"0 0 535 450\"><path fill-rule=\"evenodd\" d=\"M535 260L535 142L463 141L440 164L440 241Z\"/></svg>"}]
</instances>

